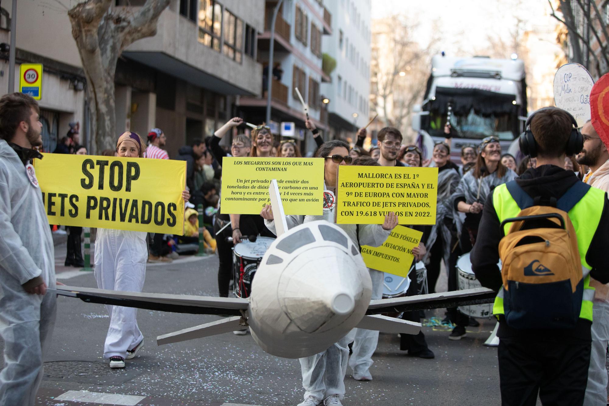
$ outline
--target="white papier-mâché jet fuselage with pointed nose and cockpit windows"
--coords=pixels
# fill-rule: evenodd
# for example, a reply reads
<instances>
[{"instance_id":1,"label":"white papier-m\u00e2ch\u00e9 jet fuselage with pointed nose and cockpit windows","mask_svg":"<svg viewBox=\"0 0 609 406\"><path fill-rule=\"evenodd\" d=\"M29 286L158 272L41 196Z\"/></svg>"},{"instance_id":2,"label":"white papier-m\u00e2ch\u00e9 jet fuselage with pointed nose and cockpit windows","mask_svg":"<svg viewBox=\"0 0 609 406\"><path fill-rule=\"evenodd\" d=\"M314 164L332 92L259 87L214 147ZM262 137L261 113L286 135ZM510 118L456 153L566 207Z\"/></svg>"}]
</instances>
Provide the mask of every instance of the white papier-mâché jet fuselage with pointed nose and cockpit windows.
<instances>
[{"instance_id":1,"label":"white papier-m\u00e2ch\u00e9 jet fuselage with pointed nose and cockpit windows","mask_svg":"<svg viewBox=\"0 0 609 406\"><path fill-rule=\"evenodd\" d=\"M365 315L371 280L359 248L340 227L312 221L277 238L252 283L252 337L277 357L324 351Z\"/></svg>"}]
</instances>

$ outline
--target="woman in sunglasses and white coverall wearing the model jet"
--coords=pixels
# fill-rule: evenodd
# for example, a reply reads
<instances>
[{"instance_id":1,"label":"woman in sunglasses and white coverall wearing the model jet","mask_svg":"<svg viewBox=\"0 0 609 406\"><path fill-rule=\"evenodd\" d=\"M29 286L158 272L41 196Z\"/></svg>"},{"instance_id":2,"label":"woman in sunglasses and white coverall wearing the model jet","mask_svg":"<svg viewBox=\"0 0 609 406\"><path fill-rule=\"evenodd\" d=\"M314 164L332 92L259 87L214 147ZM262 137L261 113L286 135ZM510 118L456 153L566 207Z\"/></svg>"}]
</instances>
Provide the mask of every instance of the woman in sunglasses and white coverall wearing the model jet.
<instances>
[{"instance_id":1,"label":"woman in sunglasses and white coverall wearing the model jet","mask_svg":"<svg viewBox=\"0 0 609 406\"><path fill-rule=\"evenodd\" d=\"M337 166L346 163L344 158L348 158L347 161L351 162L348 144L340 140L328 141L319 147L315 156L325 158L324 189L336 196L336 188L328 185L336 185ZM334 210L336 208L334 202L336 202L336 199L333 199L331 207L324 205L324 212L321 216L286 216L288 229L299 224L322 219L334 223ZM260 214L265 219L264 223L268 229L276 233L270 205L267 205ZM389 216L385 217L385 223L382 226L378 224L339 224L339 227L347 233L354 244L378 247L387 240L391 230L397 224L397 217L390 213ZM351 330L350 333L326 351L311 357L298 359L303 377L303 388L305 388L305 400L298 406L317 406L322 404L322 401L323 405L342 405L340 401L345 396L345 374L347 373L349 358L348 345L354 339L355 330Z\"/></svg>"}]
</instances>

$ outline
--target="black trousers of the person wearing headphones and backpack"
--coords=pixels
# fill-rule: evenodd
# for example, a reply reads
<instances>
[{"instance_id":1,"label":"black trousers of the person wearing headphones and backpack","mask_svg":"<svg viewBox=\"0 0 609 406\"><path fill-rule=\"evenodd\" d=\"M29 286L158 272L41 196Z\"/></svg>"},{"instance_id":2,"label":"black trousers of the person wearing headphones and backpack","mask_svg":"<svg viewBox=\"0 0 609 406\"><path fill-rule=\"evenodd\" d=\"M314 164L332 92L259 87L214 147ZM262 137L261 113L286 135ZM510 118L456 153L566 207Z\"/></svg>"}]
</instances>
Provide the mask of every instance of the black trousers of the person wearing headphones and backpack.
<instances>
[{"instance_id":1,"label":"black trousers of the person wearing headphones and backpack","mask_svg":"<svg viewBox=\"0 0 609 406\"><path fill-rule=\"evenodd\" d=\"M499 385L503 406L583 405L591 341L500 338Z\"/></svg>"}]
</instances>

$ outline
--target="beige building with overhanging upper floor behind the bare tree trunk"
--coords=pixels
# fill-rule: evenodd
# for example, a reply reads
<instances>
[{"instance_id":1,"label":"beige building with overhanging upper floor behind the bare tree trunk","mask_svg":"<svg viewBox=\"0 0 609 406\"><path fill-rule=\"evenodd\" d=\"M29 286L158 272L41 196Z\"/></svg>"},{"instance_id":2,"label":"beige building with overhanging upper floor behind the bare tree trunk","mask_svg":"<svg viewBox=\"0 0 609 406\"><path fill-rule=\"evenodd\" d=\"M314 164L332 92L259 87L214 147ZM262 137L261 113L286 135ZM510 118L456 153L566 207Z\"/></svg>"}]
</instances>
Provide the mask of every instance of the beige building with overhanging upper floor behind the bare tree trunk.
<instances>
[{"instance_id":1,"label":"beige building with overhanging upper floor behind the bare tree trunk","mask_svg":"<svg viewBox=\"0 0 609 406\"><path fill-rule=\"evenodd\" d=\"M144 2L116 0L113 7ZM167 135L167 151L175 156L181 145L212 135L233 116L236 97L260 96L262 66L256 62L256 43L264 30L264 4L172 0L161 13L157 34L136 41L119 59L117 132L147 134L151 127L160 127ZM20 63L44 65L40 107L45 151L53 151L71 121L80 123L83 143L89 138L86 79L68 18L73 6L70 0L56 0L52 7L18 2L16 72ZM0 18L0 43L10 42L7 14L10 18L10 10ZM8 88L7 72L8 53L0 51L0 94Z\"/></svg>"}]
</instances>

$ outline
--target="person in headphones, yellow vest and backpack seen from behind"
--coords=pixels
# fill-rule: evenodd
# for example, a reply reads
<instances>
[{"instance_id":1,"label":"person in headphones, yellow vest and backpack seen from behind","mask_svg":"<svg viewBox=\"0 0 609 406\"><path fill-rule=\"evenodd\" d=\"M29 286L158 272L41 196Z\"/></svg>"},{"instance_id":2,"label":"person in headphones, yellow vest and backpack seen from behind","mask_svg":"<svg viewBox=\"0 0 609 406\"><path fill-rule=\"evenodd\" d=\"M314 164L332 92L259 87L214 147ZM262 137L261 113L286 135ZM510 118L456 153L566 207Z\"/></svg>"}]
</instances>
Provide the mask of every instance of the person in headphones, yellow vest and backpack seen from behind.
<instances>
[{"instance_id":1,"label":"person in headphones, yellow vest and backpack seen from behind","mask_svg":"<svg viewBox=\"0 0 609 406\"><path fill-rule=\"evenodd\" d=\"M508 182L505 186L496 187L488 195L477 242L471 252L471 265L482 286L498 292L493 315L499 321L498 369L502 405L535 405L538 395L542 404L582 405L590 364L593 320L594 289L590 287L590 277L600 283L609 282L609 262L606 258L609 252L609 201L604 191L583 184L572 171L563 168L565 156L577 154L583 146L582 134L577 130L573 116L565 110L546 107L527 119L525 129L519 138L520 150L530 157L537 157L537 167L528 169L519 179ZM563 215L560 215L561 220L574 230L574 233L569 232L568 238L570 243L577 243L577 249L571 245L572 250L565 254L576 255L563 258L571 259L571 265L576 269L569 268L567 260L559 260L553 264L546 263L551 268L541 264L534 270L532 266L526 266L521 271L524 276L535 278L550 274L557 277L561 272L575 275L581 272L575 293L568 290L568 294L572 294L572 307L568 307L572 314L569 313L569 318L549 316L550 312L557 311L549 305L554 301L554 288L557 285L534 285L541 286L541 290L535 290L536 295L531 302L518 300L523 297L521 295L532 291L532 279L526 279L528 282L520 282L519 285L510 280L507 290L505 289L497 265L499 241L502 238L519 238L520 235L515 233L524 233L514 250L520 249L519 255L525 256L534 252L535 255L541 255L540 259L544 261L552 258L547 254L551 251L550 247L560 244L560 241L552 237L549 237L552 243L542 239L541 245L535 242L535 237L530 240L534 232L548 230L544 228L550 227L546 224L557 224L540 223L551 221L548 216L543 215L543 220L537 216L513 222L513 218L527 215L527 212L521 213L521 210L529 207L533 212L537 210L535 213L543 210L565 213L569 221L565 221ZM504 226L504 222L508 225ZM516 228L510 228L509 224ZM521 224L529 227L523 226L518 230ZM529 237L524 237L525 235ZM546 235L549 234L544 234ZM525 241L526 238L529 240ZM529 246L523 250L523 244ZM509 262L512 257L505 250L505 245L502 245L502 272L508 276L510 272L518 272L521 268L514 268ZM529 258L526 259L528 260ZM557 268L563 264L565 268ZM527 271L527 268L530 270ZM557 280L553 283L561 282ZM531 313L534 316L527 319L526 324L515 322L522 321ZM561 324L557 326L559 322Z\"/></svg>"}]
</instances>

